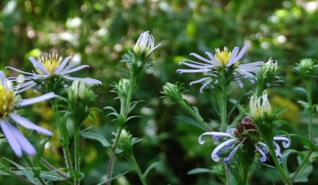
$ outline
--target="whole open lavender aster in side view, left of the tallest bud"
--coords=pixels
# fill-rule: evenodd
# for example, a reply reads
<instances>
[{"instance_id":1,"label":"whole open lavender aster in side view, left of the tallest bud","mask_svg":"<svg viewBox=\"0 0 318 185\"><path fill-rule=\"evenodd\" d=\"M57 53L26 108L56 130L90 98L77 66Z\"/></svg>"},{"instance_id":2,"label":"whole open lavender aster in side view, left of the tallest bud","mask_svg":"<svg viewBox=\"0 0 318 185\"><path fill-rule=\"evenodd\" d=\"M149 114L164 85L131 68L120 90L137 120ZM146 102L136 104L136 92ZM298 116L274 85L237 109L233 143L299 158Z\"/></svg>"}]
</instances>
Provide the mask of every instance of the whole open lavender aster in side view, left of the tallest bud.
<instances>
[{"instance_id":1,"label":"whole open lavender aster in side view, left of the tallest bud","mask_svg":"<svg viewBox=\"0 0 318 185\"><path fill-rule=\"evenodd\" d=\"M78 64L78 62L71 62L67 65L67 62L71 59L72 57L66 57L64 60L60 56L58 58L57 54L49 54L49 58L44 58L43 56L41 58L38 58L38 61L33 58L29 57L29 60L33 64L35 71L32 71L33 73L30 72L24 72L21 70L18 70L16 68L7 66L6 68L10 68L14 71L21 72L30 76L26 77L10 77L8 78L8 81L21 81L24 80L26 82L19 84L17 86L13 86L10 89L17 90L16 93L21 93L33 86L35 86L37 83L34 82L33 80L35 79L46 79L52 75L59 75L62 76L65 79L68 80L79 80L79 81L85 81L87 83L94 83L94 84L102 84L99 80L96 79L82 79L82 78L74 78L70 77L69 74L71 72L79 71L85 67L89 67L88 65L80 65L78 67L75 67L71 69L74 65Z\"/></svg>"}]
</instances>

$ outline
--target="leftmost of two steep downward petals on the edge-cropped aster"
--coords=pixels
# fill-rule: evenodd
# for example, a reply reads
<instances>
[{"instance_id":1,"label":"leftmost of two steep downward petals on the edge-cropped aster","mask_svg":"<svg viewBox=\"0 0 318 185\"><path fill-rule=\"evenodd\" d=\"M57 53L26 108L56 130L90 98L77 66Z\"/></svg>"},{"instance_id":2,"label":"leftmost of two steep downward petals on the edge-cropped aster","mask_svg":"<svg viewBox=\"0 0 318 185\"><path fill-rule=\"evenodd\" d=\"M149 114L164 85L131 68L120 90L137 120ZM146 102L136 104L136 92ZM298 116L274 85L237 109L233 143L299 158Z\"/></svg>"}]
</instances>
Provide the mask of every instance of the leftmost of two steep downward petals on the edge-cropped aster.
<instances>
[{"instance_id":1,"label":"leftmost of two steep downward petals on the edge-cropped aster","mask_svg":"<svg viewBox=\"0 0 318 185\"><path fill-rule=\"evenodd\" d=\"M22 150L20 148L19 143L15 139L14 135L12 134L10 128L10 123L7 120L0 119L0 126L3 131L4 136L7 138L10 147L12 148L13 152L18 156L22 156Z\"/></svg>"}]
</instances>

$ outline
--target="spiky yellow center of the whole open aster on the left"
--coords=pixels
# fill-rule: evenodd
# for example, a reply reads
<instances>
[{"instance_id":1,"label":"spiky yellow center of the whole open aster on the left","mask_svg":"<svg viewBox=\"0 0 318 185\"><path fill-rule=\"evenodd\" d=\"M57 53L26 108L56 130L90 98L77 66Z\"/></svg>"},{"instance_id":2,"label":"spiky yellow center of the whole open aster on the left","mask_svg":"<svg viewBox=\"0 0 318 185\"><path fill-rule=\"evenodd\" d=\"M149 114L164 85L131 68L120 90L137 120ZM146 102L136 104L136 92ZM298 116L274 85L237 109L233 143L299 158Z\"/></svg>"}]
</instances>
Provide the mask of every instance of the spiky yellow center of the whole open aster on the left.
<instances>
[{"instance_id":1,"label":"spiky yellow center of the whole open aster on the left","mask_svg":"<svg viewBox=\"0 0 318 185\"><path fill-rule=\"evenodd\" d=\"M54 55L54 53L49 54L49 59L48 58L38 58L39 62L42 62L42 64L44 65L44 68L47 72L49 72L51 75L55 73L55 71L59 68L59 65L61 64L63 58L60 56L58 58L58 55ZM38 74L44 74L41 70L39 70L38 68L36 69L36 71L38 72Z\"/></svg>"}]
</instances>

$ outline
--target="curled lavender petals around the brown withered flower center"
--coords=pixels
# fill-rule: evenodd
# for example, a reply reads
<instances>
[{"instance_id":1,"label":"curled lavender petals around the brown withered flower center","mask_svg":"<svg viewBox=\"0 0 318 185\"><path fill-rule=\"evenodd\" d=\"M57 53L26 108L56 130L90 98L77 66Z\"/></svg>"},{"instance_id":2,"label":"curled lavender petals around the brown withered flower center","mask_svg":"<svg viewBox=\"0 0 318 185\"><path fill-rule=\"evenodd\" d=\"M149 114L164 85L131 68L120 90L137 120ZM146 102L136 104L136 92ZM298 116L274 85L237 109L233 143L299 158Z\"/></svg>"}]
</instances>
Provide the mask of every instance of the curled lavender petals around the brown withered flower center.
<instances>
[{"instance_id":1,"label":"curled lavender petals around the brown withered flower center","mask_svg":"<svg viewBox=\"0 0 318 185\"><path fill-rule=\"evenodd\" d=\"M226 133L206 132L206 133L203 133L200 135L200 137L198 138L198 141L200 144L204 144L205 141L201 139L202 136L204 136L204 135L212 135L212 139L214 141L218 141L220 138L223 139L223 142L221 144L219 144L211 153L211 158L215 162L220 161L220 155L222 153L229 151L230 149L232 149L235 146L235 148L231 151L229 156L224 158L224 161L227 162L227 161L230 161L232 159L234 154L237 152L237 150L239 149L239 147L243 144L243 142L245 140L245 139L240 140L238 138L238 136L235 134L235 131L236 131L235 128L230 128L230 129L226 130ZM274 137L273 139L274 140L283 140L283 147L285 147L285 148L290 146L290 140L287 137L277 136L277 137ZM281 159L282 154L280 153L280 147L276 142L274 142L273 144L276 148L275 153L279 157L279 161L281 162L280 159ZM269 151L267 145L263 142L257 141L256 143L254 143L254 146L255 146L255 152L258 152L259 154L262 155L262 157L260 157L259 160L261 162L265 162L267 160L266 154Z\"/></svg>"}]
</instances>

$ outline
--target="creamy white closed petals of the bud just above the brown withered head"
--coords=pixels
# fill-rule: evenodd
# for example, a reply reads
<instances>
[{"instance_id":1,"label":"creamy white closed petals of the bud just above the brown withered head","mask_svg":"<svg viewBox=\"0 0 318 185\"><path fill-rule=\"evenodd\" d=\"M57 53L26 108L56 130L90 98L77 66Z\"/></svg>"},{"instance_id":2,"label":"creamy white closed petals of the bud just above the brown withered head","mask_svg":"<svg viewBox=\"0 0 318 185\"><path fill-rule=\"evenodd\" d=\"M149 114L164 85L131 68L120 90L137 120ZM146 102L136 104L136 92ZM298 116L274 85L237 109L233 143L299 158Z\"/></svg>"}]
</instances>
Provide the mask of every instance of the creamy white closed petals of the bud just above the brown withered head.
<instances>
[{"instance_id":1,"label":"creamy white closed petals of the bud just above the brown withered head","mask_svg":"<svg viewBox=\"0 0 318 185\"><path fill-rule=\"evenodd\" d=\"M267 98L267 93L260 97L252 96L250 99L250 112L252 118L263 119L265 114L271 116L272 107Z\"/></svg>"}]
</instances>

